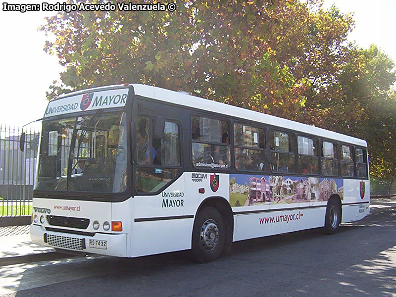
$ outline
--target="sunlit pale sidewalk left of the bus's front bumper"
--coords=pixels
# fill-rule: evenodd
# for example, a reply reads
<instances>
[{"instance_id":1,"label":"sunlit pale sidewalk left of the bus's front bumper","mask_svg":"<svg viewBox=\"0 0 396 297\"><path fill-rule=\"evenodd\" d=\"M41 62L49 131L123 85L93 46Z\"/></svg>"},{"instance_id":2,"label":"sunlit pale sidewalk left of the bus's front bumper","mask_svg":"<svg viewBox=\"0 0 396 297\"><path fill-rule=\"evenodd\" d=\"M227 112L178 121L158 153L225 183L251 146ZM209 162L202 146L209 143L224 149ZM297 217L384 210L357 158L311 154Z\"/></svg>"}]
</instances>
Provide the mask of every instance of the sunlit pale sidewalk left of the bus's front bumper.
<instances>
[{"instance_id":1,"label":"sunlit pale sidewalk left of the bus's front bumper","mask_svg":"<svg viewBox=\"0 0 396 297\"><path fill-rule=\"evenodd\" d=\"M58 258L52 247L31 242L29 226L0 228L0 266Z\"/></svg>"}]
</instances>

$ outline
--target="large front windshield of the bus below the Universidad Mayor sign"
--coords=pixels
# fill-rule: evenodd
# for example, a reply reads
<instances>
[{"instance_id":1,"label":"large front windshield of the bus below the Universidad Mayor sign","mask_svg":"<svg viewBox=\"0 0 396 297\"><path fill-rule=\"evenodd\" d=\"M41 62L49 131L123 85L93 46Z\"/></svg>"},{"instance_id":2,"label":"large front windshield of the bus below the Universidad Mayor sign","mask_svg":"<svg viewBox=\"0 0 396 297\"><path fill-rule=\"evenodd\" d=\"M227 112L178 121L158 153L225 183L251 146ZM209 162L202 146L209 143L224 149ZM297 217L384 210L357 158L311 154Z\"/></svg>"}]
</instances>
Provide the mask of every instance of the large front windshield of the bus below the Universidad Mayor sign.
<instances>
[{"instance_id":1,"label":"large front windshield of the bus below the Universidad Mayor sign","mask_svg":"<svg viewBox=\"0 0 396 297\"><path fill-rule=\"evenodd\" d=\"M121 193L127 188L125 112L43 122L35 190Z\"/></svg>"}]
</instances>

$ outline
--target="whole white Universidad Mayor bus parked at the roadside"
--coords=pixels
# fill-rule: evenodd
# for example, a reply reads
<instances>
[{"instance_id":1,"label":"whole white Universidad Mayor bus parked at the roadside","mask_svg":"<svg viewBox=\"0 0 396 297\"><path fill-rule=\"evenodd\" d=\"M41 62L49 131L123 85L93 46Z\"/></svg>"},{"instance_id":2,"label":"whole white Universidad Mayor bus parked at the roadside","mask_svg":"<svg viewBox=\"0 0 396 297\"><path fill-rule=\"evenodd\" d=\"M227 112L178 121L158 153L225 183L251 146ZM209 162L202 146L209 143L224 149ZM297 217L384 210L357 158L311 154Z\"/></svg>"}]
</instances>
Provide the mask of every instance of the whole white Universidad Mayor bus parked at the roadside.
<instances>
[{"instance_id":1,"label":"whole white Universidad Mayor bus parked at the roadside","mask_svg":"<svg viewBox=\"0 0 396 297\"><path fill-rule=\"evenodd\" d=\"M161 88L127 84L51 100L32 241L138 257L323 227L369 212L364 140Z\"/></svg>"}]
</instances>

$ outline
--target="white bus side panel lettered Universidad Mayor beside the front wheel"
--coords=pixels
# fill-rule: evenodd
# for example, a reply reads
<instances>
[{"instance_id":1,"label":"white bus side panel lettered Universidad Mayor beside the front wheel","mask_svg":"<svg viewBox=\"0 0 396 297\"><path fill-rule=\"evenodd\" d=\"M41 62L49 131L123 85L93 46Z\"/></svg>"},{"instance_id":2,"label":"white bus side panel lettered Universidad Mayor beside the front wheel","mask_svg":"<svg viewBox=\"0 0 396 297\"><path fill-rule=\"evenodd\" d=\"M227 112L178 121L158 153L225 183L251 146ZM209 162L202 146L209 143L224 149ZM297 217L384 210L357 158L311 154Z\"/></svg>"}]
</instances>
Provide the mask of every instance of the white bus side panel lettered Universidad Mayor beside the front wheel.
<instances>
[{"instance_id":1,"label":"white bus side panel lettered Universidad Mayor beside the front wheel","mask_svg":"<svg viewBox=\"0 0 396 297\"><path fill-rule=\"evenodd\" d=\"M200 173L204 178L194 181L192 174L183 173L158 195L135 196L132 199L132 257L190 249L194 219L200 203L209 197L222 197L228 201L228 174L216 174L219 177L216 192L210 187L210 175L213 173ZM204 194L198 192L201 188L205 190Z\"/></svg>"}]
</instances>

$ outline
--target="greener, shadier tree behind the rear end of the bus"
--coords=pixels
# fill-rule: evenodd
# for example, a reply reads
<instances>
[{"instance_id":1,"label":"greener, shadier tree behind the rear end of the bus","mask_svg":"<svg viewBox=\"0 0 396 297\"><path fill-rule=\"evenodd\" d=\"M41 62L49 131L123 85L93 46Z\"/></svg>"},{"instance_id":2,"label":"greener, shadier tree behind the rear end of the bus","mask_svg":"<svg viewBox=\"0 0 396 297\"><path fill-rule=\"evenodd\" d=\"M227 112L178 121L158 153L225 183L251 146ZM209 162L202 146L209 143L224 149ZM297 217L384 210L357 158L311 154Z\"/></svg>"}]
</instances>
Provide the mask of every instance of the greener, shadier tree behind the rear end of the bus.
<instances>
[{"instance_id":1,"label":"greener, shadier tree behind the rear end of the bus","mask_svg":"<svg viewBox=\"0 0 396 297\"><path fill-rule=\"evenodd\" d=\"M396 81L392 59L372 45L369 49L348 48L348 62L329 93L328 100L314 99L303 114L307 122L365 139L376 177L394 176L396 167Z\"/></svg>"}]
</instances>

